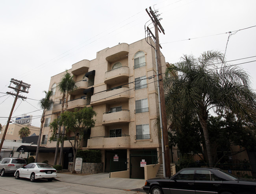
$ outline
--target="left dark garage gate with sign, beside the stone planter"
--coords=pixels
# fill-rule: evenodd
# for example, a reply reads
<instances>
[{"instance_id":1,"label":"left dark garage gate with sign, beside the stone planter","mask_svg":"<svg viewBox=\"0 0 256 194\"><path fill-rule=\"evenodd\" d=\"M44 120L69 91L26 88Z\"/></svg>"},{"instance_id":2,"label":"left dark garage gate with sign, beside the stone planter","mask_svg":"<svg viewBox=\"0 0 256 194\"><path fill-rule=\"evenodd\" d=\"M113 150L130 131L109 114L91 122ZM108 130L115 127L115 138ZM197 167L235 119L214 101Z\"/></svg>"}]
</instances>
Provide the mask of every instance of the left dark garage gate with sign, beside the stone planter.
<instances>
[{"instance_id":1,"label":"left dark garage gate with sign, beside the stone planter","mask_svg":"<svg viewBox=\"0 0 256 194\"><path fill-rule=\"evenodd\" d=\"M127 170L127 150L106 150L105 172Z\"/></svg>"}]
</instances>

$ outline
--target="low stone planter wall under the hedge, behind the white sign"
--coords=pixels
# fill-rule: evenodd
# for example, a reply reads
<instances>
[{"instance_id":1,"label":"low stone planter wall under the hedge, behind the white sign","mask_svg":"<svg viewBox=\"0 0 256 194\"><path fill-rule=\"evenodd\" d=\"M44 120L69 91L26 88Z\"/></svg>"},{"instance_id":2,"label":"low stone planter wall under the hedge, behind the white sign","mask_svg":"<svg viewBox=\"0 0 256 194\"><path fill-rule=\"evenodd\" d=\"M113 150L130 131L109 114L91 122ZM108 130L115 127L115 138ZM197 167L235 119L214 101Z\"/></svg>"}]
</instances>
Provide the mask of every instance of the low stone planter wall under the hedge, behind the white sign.
<instances>
[{"instance_id":1,"label":"low stone planter wall under the hedge, behind the white sign","mask_svg":"<svg viewBox=\"0 0 256 194\"><path fill-rule=\"evenodd\" d=\"M73 169L73 163L69 162L69 171ZM103 163L82 163L82 173L98 174L103 172Z\"/></svg>"}]
</instances>

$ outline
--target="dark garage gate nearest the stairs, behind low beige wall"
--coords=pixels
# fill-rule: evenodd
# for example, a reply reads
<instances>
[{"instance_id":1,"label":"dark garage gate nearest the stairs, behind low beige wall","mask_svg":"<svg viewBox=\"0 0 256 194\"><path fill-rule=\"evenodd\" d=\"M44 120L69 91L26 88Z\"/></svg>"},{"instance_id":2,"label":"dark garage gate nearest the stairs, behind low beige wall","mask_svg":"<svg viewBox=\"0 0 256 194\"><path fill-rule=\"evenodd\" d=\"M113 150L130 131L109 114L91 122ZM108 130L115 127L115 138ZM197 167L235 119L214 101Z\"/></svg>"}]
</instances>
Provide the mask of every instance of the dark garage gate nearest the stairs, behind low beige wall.
<instances>
[{"instance_id":1,"label":"dark garage gate nearest the stairs, behind low beige wall","mask_svg":"<svg viewBox=\"0 0 256 194\"><path fill-rule=\"evenodd\" d=\"M144 179L144 167L141 162L145 161L147 165L156 164L158 160L157 150L131 150L130 151L130 178Z\"/></svg>"}]
</instances>

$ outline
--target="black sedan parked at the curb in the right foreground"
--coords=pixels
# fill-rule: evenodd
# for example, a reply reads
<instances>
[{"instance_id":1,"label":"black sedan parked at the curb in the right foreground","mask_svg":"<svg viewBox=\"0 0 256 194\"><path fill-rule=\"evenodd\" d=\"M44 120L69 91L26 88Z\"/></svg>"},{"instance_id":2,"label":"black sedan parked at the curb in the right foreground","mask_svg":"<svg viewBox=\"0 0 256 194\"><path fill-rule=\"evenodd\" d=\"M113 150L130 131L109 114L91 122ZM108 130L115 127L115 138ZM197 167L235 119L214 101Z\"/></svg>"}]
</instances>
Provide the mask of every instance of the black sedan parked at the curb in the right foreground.
<instances>
[{"instance_id":1,"label":"black sedan parked at the curb in the right foreground","mask_svg":"<svg viewBox=\"0 0 256 194\"><path fill-rule=\"evenodd\" d=\"M183 168L171 178L148 179L143 190L150 194L256 194L256 181L219 168Z\"/></svg>"}]
</instances>

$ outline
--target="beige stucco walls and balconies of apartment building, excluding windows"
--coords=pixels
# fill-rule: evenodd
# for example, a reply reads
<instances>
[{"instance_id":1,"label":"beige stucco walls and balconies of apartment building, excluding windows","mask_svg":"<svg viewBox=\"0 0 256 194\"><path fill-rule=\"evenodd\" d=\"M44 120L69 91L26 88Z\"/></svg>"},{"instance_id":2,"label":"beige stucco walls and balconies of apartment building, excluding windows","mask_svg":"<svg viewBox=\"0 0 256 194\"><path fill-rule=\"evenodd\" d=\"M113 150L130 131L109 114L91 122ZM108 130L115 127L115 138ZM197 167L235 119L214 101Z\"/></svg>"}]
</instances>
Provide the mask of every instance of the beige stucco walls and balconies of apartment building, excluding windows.
<instances>
[{"instance_id":1,"label":"beige stucco walls and balconies of apartment building, excluding windows","mask_svg":"<svg viewBox=\"0 0 256 194\"><path fill-rule=\"evenodd\" d=\"M145 53L146 65L140 68L134 68L134 55L143 51ZM111 70L115 63L122 63L122 67ZM167 63L161 55L162 70L165 71ZM85 73L95 70L94 84L90 86L91 77L85 77ZM121 43L112 48L106 48L96 53L96 59L91 61L82 60L72 65L68 72L74 75L78 89L70 92L69 110L75 107L93 107L97 113L95 127L91 129L91 139L88 139L87 147L83 149L157 149L159 150L161 142L156 137L154 122L158 112L158 91L156 82L156 63L154 49L147 44L145 39L132 44ZM51 77L49 90L54 83L58 84L65 72L61 72ZM153 76L152 79L145 79L147 87L135 90L135 79L146 76ZM114 87L122 86L119 89ZM87 103L81 96L89 99L90 94L83 94L84 89L94 88L93 95ZM112 90L109 90L112 89ZM59 102L62 94L56 89L52 97L54 102ZM79 98L79 99L78 99ZM147 112L135 113L135 101L148 99ZM76 99L76 100L74 100ZM86 104L87 103L87 104ZM122 111L108 113L111 108L122 106ZM61 105L56 104L52 110L47 112L46 118L51 121L60 115ZM138 139L136 137L137 125L149 125L149 138ZM109 137L110 130L122 129L121 137ZM45 126L43 135L51 136L51 129ZM47 142L47 147L54 147L56 143ZM65 142L65 146L70 146ZM127 156L129 158L129 156ZM104 160L104 158L103 158Z\"/></svg>"}]
</instances>

